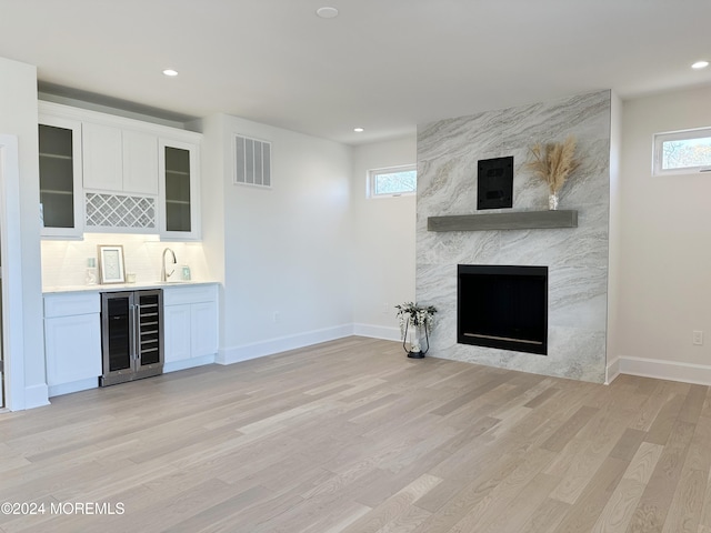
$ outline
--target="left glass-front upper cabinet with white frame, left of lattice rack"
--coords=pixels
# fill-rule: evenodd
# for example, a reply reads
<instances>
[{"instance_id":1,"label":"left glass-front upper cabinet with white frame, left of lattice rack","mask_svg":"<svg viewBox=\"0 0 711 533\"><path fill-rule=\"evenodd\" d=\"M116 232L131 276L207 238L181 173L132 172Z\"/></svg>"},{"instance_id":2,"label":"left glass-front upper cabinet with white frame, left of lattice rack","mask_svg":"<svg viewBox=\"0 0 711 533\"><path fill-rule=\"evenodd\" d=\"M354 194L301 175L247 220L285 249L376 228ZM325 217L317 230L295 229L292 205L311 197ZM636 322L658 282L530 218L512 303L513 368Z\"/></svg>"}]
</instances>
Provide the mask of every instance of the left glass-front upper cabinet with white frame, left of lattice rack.
<instances>
[{"instance_id":1,"label":"left glass-front upper cabinet with white frame, left of lattice rack","mask_svg":"<svg viewBox=\"0 0 711 533\"><path fill-rule=\"evenodd\" d=\"M81 122L40 117L39 160L42 237L80 238Z\"/></svg>"}]
</instances>

